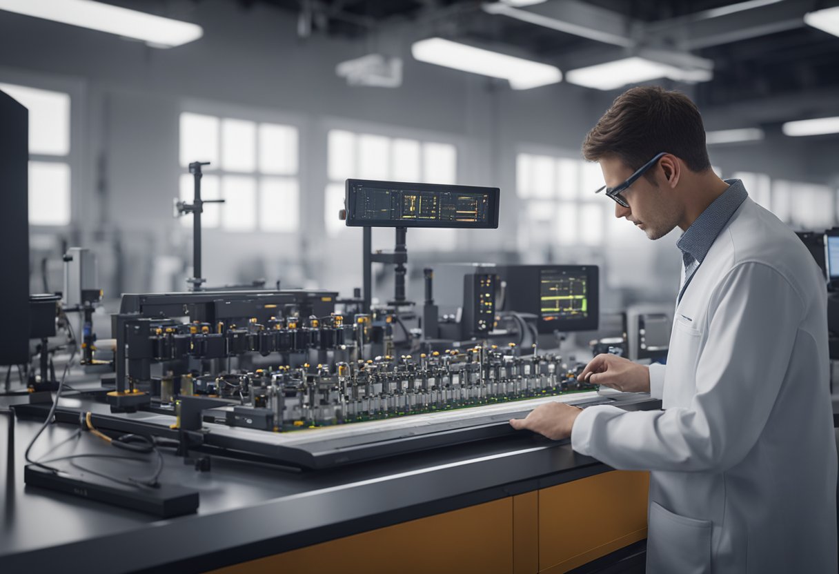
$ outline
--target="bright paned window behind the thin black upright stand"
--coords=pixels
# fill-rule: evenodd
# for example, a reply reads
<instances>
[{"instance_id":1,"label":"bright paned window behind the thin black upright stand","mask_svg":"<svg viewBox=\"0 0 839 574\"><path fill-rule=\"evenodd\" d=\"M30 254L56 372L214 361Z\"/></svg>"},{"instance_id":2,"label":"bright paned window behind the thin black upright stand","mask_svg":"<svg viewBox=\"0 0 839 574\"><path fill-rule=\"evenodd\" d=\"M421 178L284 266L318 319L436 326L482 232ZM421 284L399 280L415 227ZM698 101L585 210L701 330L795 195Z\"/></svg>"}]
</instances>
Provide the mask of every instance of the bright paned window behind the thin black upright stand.
<instances>
[{"instance_id":1,"label":"bright paned window behind the thin black upright stand","mask_svg":"<svg viewBox=\"0 0 839 574\"><path fill-rule=\"evenodd\" d=\"M209 161L201 198L202 227L231 232L296 232L300 221L298 133L293 126L197 113L180 114L180 164ZM180 175L180 197L192 201L194 180ZM191 227L190 217L182 218Z\"/></svg>"}]
</instances>

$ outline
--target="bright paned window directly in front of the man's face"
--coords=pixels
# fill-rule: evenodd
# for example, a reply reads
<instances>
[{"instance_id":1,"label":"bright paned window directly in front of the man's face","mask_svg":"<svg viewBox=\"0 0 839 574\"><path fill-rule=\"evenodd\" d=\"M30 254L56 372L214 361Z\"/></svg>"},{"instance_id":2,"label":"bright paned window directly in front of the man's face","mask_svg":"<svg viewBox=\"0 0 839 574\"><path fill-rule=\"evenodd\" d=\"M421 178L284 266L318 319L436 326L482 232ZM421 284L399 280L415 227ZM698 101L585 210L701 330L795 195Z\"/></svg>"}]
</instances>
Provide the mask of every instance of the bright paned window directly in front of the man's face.
<instances>
[{"instance_id":1,"label":"bright paned window directly in front of the man's face","mask_svg":"<svg viewBox=\"0 0 839 574\"><path fill-rule=\"evenodd\" d=\"M594 191L603 185L598 164L550 155L516 157L519 248L603 243L605 206ZM607 204L605 204L607 206Z\"/></svg>"}]
</instances>

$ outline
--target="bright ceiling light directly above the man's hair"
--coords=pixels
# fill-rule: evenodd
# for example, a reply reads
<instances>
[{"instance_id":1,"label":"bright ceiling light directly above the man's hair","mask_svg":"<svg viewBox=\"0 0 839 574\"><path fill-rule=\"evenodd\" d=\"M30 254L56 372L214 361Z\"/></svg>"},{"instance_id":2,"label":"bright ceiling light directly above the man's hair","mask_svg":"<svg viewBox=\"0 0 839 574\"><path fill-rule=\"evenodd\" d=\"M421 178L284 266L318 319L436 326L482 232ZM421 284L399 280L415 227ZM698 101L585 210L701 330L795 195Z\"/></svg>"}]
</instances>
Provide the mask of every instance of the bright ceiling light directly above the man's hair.
<instances>
[{"instance_id":1,"label":"bright ceiling light directly above the man's hair","mask_svg":"<svg viewBox=\"0 0 839 574\"><path fill-rule=\"evenodd\" d=\"M675 65L662 64L646 58L632 56L623 60L568 70L565 73L565 80L578 86L586 86L597 90L616 90L627 84L659 78L670 78L670 80L692 83L709 81L712 76L713 72L711 70L698 68L685 70Z\"/></svg>"}]
</instances>

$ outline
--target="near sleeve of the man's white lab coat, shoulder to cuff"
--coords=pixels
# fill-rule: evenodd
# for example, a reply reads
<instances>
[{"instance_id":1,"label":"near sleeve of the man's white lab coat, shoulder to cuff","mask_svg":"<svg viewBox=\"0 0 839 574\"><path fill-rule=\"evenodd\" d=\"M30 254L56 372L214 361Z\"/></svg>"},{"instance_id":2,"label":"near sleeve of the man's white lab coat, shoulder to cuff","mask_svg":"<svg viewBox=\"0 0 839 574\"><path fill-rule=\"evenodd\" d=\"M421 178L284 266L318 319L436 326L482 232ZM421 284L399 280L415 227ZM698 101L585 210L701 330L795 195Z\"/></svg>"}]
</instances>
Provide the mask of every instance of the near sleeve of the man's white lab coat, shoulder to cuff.
<instances>
[{"instance_id":1,"label":"near sleeve of the man's white lab coat, shoulder to cuff","mask_svg":"<svg viewBox=\"0 0 839 574\"><path fill-rule=\"evenodd\" d=\"M775 269L737 265L711 293L690 405L636 412L591 406L577 416L571 446L626 470L722 472L736 465L774 407L804 308ZM651 390L653 380L651 372Z\"/></svg>"}]
</instances>

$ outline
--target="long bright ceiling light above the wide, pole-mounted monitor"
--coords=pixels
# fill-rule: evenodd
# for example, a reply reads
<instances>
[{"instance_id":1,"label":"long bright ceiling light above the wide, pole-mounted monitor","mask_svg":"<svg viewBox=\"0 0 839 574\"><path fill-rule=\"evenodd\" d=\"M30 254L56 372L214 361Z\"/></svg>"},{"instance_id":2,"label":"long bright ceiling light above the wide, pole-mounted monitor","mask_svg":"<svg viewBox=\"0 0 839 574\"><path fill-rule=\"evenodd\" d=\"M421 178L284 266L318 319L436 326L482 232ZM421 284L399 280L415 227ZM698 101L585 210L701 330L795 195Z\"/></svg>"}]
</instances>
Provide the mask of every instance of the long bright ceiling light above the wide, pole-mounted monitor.
<instances>
[{"instance_id":1,"label":"long bright ceiling light above the wide, pole-mounted monitor","mask_svg":"<svg viewBox=\"0 0 839 574\"><path fill-rule=\"evenodd\" d=\"M442 38L429 38L414 42L411 54L416 60L428 64L508 80L513 90L555 84L562 80L560 69L548 64L524 60Z\"/></svg>"}]
</instances>

